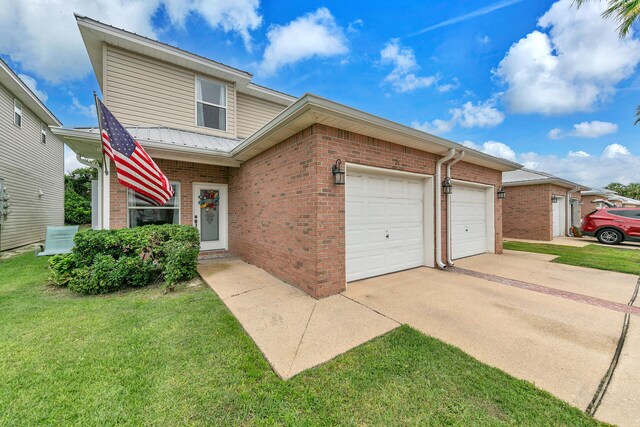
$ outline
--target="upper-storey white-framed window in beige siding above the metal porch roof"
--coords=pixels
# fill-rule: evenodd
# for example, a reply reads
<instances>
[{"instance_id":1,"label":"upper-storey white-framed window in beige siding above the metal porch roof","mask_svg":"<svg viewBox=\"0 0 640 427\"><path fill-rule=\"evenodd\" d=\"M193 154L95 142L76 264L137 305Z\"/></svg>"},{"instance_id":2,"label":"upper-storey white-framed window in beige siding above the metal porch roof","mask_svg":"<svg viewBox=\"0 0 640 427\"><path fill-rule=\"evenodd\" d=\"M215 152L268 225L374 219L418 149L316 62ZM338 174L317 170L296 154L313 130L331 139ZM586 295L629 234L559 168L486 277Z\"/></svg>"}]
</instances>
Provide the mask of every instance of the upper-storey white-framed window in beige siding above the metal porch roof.
<instances>
[{"instance_id":1,"label":"upper-storey white-framed window in beige siding above the metal porch roof","mask_svg":"<svg viewBox=\"0 0 640 427\"><path fill-rule=\"evenodd\" d=\"M227 89L224 84L196 79L197 125L227 130Z\"/></svg>"}]
</instances>

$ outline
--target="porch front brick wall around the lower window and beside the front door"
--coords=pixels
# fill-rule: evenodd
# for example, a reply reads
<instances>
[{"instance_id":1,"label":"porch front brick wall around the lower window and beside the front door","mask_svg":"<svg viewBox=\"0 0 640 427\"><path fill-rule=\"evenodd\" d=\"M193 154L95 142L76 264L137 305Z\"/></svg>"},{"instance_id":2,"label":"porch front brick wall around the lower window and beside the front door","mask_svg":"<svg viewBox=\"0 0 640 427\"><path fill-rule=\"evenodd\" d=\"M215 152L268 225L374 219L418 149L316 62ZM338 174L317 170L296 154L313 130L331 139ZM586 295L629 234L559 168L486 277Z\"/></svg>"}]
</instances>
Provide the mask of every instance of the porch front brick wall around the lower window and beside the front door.
<instances>
[{"instance_id":1,"label":"porch front brick wall around the lower window and beside the front door","mask_svg":"<svg viewBox=\"0 0 640 427\"><path fill-rule=\"evenodd\" d=\"M180 223L193 223L192 192L194 182L227 184L229 168L226 166L205 165L175 160L154 159L158 167L170 181L180 182ZM111 228L127 227L127 188L118 182L115 166L109 170L110 206L109 224Z\"/></svg>"}]
</instances>

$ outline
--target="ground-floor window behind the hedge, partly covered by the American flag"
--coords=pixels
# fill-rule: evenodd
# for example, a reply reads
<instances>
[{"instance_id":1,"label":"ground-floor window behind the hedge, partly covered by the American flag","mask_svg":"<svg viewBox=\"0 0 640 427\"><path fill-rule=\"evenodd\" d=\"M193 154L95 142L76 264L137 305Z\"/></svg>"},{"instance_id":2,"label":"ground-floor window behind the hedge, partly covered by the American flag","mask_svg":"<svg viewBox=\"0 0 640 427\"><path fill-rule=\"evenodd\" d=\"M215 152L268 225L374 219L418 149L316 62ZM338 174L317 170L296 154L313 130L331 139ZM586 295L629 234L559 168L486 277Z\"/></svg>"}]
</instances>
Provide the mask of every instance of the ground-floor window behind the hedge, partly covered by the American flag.
<instances>
[{"instance_id":1,"label":"ground-floor window behind the hedge, partly covered by the American flag","mask_svg":"<svg viewBox=\"0 0 640 427\"><path fill-rule=\"evenodd\" d=\"M129 227L141 225L180 224L180 183L172 182L173 197L163 206L154 206L144 196L127 190Z\"/></svg>"}]
</instances>

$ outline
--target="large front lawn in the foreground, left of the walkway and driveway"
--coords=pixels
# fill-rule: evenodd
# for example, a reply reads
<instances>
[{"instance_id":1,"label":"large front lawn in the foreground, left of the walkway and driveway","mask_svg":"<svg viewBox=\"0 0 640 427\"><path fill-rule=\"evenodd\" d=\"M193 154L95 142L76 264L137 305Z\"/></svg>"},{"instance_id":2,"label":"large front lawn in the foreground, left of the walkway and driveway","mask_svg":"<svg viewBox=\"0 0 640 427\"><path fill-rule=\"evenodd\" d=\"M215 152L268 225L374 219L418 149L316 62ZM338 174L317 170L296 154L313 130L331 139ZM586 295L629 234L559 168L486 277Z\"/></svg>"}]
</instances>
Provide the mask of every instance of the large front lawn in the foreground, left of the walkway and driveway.
<instances>
[{"instance_id":1,"label":"large front lawn in the foreground, left of the walkway and driveway","mask_svg":"<svg viewBox=\"0 0 640 427\"><path fill-rule=\"evenodd\" d=\"M47 276L0 261L0 425L595 424L409 327L282 381L202 284L82 297Z\"/></svg>"}]
</instances>

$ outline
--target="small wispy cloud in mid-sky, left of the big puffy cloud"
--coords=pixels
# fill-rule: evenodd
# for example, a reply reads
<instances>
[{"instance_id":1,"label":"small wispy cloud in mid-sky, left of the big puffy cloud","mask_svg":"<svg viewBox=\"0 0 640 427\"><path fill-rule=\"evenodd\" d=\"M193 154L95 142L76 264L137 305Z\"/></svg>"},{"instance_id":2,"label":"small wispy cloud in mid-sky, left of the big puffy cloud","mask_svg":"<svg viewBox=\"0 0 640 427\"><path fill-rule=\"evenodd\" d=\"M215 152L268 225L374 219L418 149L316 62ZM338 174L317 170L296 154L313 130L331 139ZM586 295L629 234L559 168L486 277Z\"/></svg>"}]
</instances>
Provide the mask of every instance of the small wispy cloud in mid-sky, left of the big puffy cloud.
<instances>
[{"instance_id":1,"label":"small wispy cloud in mid-sky, left of the big puffy cloud","mask_svg":"<svg viewBox=\"0 0 640 427\"><path fill-rule=\"evenodd\" d=\"M439 80L437 75L417 76L414 71L418 71L420 66L418 66L413 49L401 46L397 39L389 41L382 48L380 60L382 64L393 65L393 70L385 77L384 81L389 83L396 92L405 93L433 86Z\"/></svg>"}]
</instances>

